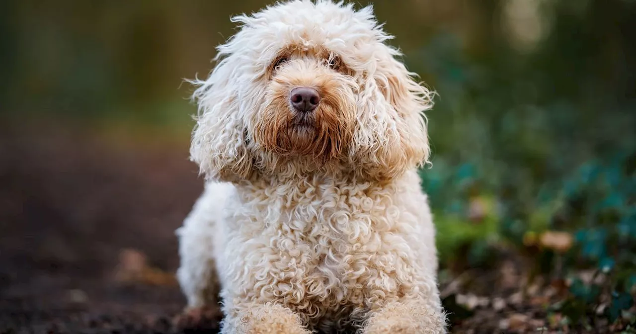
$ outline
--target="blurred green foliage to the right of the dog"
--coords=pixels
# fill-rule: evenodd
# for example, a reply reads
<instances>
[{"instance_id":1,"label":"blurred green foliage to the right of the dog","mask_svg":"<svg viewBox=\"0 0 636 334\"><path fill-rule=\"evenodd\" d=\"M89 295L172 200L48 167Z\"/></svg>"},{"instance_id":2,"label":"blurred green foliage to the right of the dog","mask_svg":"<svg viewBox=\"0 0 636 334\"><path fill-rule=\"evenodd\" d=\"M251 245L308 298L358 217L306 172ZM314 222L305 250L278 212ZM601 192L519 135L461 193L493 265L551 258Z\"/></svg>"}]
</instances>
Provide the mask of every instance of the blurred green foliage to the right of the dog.
<instances>
[{"instance_id":1,"label":"blurred green foliage to the right of the dog","mask_svg":"<svg viewBox=\"0 0 636 334\"><path fill-rule=\"evenodd\" d=\"M534 52L490 42L491 52L470 53L439 34L410 57L440 96L428 114L434 158L422 186L436 212L443 266L470 254L496 257L494 242L523 252L524 241L543 232L571 233L565 253L541 249L532 257L546 277L571 279L553 309L567 323L590 326L607 304L609 321L633 323L636 99L631 74L619 68L636 63L636 50L612 34L611 22L626 25L634 7L614 3L612 13L625 15L609 18L598 1L576 15L568 3L553 2L554 30ZM618 63L608 58L609 36L623 50ZM479 222L469 215L474 198L490 203ZM577 279L581 270L595 270L598 281Z\"/></svg>"}]
</instances>

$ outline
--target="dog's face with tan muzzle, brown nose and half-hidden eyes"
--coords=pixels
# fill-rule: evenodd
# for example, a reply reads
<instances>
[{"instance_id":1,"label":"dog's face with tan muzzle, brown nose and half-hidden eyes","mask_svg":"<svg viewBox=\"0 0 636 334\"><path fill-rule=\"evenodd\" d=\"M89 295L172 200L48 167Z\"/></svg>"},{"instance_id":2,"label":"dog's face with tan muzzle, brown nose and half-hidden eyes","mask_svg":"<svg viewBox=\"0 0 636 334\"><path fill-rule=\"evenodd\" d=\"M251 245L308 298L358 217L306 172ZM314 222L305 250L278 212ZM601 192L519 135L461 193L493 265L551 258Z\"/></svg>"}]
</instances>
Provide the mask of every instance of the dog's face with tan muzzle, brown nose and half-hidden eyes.
<instances>
[{"instance_id":1,"label":"dog's face with tan muzzle, brown nose and half-hidden eyes","mask_svg":"<svg viewBox=\"0 0 636 334\"><path fill-rule=\"evenodd\" d=\"M311 41L301 38L273 55L249 128L260 148L287 160L337 160L352 140L357 86L335 52Z\"/></svg>"}]
</instances>

